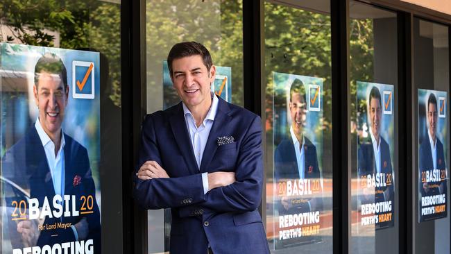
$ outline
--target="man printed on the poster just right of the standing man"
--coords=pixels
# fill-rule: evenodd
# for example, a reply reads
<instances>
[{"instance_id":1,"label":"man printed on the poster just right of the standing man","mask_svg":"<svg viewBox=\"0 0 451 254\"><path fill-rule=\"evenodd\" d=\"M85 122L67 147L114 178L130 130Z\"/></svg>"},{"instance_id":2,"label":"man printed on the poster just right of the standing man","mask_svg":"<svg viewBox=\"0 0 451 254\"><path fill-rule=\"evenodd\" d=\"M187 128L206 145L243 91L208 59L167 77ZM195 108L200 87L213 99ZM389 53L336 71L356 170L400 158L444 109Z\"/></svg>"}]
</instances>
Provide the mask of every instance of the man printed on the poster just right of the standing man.
<instances>
[{"instance_id":1,"label":"man printed on the poster just right of the standing man","mask_svg":"<svg viewBox=\"0 0 451 254\"><path fill-rule=\"evenodd\" d=\"M274 152L275 180L276 183L280 180L317 180L316 186L319 189L313 190L321 196L321 173L318 168L316 146L305 136L303 131L307 103L304 84L298 78L291 83L289 96L290 134L282 139L282 142L278 144ZM312 186L310 189L312 189ZM295 202L297 205L292 205L292 198L282 196L279 212L280 214L292 214L321 210L321 198L305 198L303 196L300 197L300 202Z\"/></svg>"}]
</instances>

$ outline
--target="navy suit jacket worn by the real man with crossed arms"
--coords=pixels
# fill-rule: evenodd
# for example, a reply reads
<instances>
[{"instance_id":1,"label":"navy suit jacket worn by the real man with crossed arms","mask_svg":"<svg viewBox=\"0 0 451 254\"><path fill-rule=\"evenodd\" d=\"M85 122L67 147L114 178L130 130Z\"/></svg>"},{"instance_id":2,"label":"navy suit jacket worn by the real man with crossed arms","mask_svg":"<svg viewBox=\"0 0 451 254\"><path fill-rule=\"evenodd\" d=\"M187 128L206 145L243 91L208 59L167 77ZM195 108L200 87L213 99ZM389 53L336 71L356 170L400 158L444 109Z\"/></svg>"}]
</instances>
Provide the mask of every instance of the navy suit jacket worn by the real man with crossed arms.
<instances>
[{"instance_id":1,"label":"navy suit jacket worn by the real man with crossed arms","mask_svg":"<svg viewBox=\"0 0 451 254\"><path fill-rule=\"evenodd\" d=\"M217 137L235 142L218 146ZM170 178L139 180L135 198L145 209L171 208L171 254L269 253L262 218L262 126L259 117L219 98L198 169L182 103L147 115L137 169L154 160ZM203 194L201 173L235 172L236 182Z\"/></svg>"}]
</instances>

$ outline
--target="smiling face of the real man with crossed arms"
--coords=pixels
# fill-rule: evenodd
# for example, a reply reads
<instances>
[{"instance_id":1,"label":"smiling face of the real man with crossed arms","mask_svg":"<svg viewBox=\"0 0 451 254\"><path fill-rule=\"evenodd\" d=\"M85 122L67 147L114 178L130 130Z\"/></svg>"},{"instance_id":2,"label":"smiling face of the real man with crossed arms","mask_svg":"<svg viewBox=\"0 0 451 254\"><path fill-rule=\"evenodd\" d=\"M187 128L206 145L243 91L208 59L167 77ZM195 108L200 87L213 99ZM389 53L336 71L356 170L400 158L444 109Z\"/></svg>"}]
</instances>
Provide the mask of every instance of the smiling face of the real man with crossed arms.
<instances>
[{"instance_id":1,"label":"smiling face of the real man with crossed arms","mask_svg":"<svg viewBox=\"0 0 451 254\"><path fill-rule=\"evenodd\" d=\"M214 81L216 67L207 70L202 57L196 55L173 60L172 71L173 86L189 109L210 107L210 85Z\"/></svg>"}]
</instances>

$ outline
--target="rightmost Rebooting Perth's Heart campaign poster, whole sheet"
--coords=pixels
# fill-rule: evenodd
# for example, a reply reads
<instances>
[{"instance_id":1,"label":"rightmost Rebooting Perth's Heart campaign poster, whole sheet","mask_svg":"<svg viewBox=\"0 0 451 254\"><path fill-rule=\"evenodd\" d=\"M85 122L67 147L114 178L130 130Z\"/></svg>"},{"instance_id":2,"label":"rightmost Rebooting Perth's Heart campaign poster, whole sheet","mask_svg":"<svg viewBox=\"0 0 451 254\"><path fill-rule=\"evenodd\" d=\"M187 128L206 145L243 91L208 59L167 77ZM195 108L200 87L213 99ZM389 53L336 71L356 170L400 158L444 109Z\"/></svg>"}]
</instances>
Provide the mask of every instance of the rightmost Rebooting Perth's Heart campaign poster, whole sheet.
<instances>
[{"instance_id":1,"label":"rightmost Rebooting Perth's Heart campaign poster, whole sheet","mask_svg":"<svg viewBox=\"0 0 451 254\"><path fill-rule=\"evenodd\" d=\"M418 222L445 218L448 94L418 89Z\"/></svg>"}]
</instances>

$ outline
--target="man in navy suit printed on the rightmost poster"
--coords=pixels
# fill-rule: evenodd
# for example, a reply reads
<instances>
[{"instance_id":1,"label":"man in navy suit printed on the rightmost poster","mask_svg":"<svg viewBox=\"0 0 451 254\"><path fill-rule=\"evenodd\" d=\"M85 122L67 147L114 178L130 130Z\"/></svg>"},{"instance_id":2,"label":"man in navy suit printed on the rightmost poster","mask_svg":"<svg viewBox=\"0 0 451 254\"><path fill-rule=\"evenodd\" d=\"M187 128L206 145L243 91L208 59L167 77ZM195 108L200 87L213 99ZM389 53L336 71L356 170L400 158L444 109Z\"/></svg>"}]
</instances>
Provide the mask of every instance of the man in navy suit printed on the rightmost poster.
<instances>
[{"instance_id":1,"label":"man in navy suit printed on the rightmost poster","mask_svg":"<svg viewBox=\"0 0 451 254\"><path fill-rule=\"evenodd\" d=\"M437 100L434 94L427 99L427 136L423 137L420 144L420 178L423 172L440 169L446 170L445 153L443 144L436 136L437 133ZM431 183L420 183L421 196L432 196L446 193L446 173L440 173L440 180ZM443 176L443 177L442 177ZM421 181L420 181L421 182Z\"/></svg>"}]
</instances>

